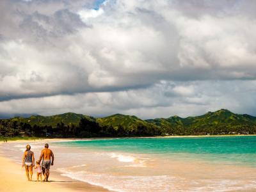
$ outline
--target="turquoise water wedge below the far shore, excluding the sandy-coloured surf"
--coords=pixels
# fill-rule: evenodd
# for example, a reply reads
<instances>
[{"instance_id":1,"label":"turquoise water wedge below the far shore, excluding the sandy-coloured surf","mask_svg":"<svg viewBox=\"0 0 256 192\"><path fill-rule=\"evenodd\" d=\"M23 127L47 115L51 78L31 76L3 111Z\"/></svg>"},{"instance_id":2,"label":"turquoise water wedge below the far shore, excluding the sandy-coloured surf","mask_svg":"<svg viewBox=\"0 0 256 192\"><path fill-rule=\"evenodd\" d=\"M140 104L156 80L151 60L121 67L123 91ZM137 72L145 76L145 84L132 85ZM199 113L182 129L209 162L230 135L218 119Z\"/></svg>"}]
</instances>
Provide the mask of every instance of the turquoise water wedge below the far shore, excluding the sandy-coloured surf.
<instances>
[{"instance_id":1,"label":"turquoise water wedge below the far shore, excluding the sandy-coloured surf","mask_svg":"<svg viewBox=\"0 0 256 192\"><path fill-rule=\"evenodd\" d=\"M209 163L256 166L256 136L116 138L61 142L67 147L200 159Z\"/></svg>"}]
</instances>

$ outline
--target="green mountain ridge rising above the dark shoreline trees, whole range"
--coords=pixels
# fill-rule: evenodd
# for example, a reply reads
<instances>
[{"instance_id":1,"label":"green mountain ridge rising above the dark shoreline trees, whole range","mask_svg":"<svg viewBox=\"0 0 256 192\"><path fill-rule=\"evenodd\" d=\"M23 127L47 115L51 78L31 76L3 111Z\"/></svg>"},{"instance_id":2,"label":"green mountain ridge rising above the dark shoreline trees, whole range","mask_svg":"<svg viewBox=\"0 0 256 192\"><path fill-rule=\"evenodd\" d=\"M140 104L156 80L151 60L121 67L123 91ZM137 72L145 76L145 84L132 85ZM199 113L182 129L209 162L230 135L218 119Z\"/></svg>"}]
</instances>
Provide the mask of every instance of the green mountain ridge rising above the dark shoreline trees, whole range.
<instances>
[{"instance_id":1,"label":"green mountain ridge rising above the dark shoreline trees, whole range","mask_svg":"<svg viewBox=\"0 0 256 192\"><path fill-rule=\"evenodd\" d=\"M67 129L70 129L70 127L81 127L81 119L84 119L82 123L85 127L87 125L92 127L90 130L93 130L93 126L105 132L111 130L115 133L122 130L123 135L136 135L138 133L143 135L145 132L147 133L145 135L220 134L221 132L256 133L255 116L232 113L228 109L209 111L204 115L188 116L186 118L174 115L168 118L142 120L134 115L120 113L94 118L93 116L68 112L51 116L32 115L28 118L16 116L9 118L8 121L29 124L31 127L49 126L53 129L63 129L67 126L69 127Z\"/></svg>"}]
</instances>

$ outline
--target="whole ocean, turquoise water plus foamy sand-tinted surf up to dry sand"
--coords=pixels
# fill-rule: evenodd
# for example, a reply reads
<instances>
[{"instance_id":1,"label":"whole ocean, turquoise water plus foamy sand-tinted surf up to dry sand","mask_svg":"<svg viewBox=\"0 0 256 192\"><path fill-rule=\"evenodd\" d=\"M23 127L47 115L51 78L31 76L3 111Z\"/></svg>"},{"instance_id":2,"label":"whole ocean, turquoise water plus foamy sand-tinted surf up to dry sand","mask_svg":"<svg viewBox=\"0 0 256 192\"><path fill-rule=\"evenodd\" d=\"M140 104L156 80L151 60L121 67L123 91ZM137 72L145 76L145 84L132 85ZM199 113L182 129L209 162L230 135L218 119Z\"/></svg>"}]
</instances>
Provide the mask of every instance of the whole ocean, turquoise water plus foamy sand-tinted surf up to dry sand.
<instances>
[{"instance_id":1,"label":"whole ocean, turquoise water plus foamy sand-tinted surf up to dry sand","mask_svg":"<svg viewBox=\"0 0 256 192\"><path fill-rule=\"evenodd\" d=\"M56 157L54 168L61 175L112 191L256 191L256 136L49 144ZM38 142L31 148L39 156L42 146ZM9 149L15 159L24 146L15 143Z\"/></svg>"}]
</instances>

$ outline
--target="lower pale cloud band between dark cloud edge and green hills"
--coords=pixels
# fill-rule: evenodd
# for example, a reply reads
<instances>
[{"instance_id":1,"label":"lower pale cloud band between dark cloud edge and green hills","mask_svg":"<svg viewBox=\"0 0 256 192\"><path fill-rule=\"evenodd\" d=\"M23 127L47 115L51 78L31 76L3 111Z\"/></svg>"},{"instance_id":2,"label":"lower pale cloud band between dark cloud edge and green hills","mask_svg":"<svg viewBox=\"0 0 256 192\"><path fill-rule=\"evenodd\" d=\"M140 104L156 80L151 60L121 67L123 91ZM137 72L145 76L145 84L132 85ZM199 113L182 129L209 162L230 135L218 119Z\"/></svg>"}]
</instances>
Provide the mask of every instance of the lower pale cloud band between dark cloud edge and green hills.
<instances>
[{"instance_id":1,"label":"lower pale cloud band between dark cloud edge and green hills","mask_svg":"<svg viewBox=\"0 0 256 192\"><path fill-rule=\"evenodd\" d=\"M162 81L137 90L7 100L1 102L0 113L52 115L72 111L98 117L123 113L147 119L202 115L227 108L253 115L255 85L256 81Z\"/></svg>"}]
</instances>

